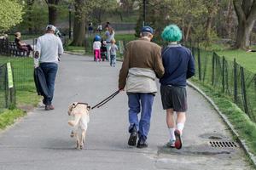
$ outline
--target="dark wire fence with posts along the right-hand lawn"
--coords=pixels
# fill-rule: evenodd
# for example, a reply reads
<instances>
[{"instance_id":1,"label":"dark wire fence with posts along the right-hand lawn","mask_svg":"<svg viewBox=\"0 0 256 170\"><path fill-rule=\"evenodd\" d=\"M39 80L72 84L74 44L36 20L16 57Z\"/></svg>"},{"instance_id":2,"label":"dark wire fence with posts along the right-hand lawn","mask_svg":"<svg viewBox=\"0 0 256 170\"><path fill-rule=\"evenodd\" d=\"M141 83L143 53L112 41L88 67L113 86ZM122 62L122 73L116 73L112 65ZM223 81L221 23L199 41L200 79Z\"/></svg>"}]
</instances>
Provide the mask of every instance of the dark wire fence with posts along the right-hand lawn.
<instances>
[{"instance_id":1,"label":"dark wire fence with posts along the right-hand lawn","mask_svg":"<svg viewBox=\"0 0 256 170\"><path fill-rule=\"evenodd\" d=\"M191 48L195 56L195 78L232 99L256 122L256 74L214 52Z\"/></svg>"}]
</instances>

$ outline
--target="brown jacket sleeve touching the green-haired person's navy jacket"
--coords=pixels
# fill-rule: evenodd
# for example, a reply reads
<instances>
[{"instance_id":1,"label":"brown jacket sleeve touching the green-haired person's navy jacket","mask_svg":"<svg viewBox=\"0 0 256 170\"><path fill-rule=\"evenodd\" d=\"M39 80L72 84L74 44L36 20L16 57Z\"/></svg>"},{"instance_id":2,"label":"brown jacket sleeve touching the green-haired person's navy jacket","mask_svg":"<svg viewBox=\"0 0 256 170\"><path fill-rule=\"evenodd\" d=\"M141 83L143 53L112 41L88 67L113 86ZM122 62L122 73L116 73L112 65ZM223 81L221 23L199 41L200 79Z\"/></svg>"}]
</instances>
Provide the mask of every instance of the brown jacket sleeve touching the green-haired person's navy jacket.
<instances>
[{"instance_id":1,"label":"brown jacket sleeve touching the green-haired person's navy jacket","mask_svg":"<svg viewBox=\"0 0 256 170\"><path fill-rule=\"evenodd\" d=\"M154 54L154 72L156 74L156 77L160 78L163 77L165 74L165 68L162 62L161 57L161 48L156 48L155 54Z\"/></svg>"}]
</instances>

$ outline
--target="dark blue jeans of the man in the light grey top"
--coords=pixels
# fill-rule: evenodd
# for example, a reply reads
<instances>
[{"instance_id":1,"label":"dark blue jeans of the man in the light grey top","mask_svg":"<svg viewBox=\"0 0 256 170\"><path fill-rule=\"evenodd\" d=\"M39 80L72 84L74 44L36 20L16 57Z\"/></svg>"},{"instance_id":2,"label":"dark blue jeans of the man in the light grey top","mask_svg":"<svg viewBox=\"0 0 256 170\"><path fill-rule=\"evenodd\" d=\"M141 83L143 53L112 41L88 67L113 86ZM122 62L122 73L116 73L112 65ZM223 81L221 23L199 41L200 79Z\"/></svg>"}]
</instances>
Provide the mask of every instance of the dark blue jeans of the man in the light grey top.
<instances>
[{"instance_id":1,"label":"dark blue jeans of the man in the light grey top","mask_svg":"<svg viewBox=\"0 0 256 170\"><path fill-rule=\"evenodd\" d=\"M58 65L56 63L40 63L40 67L44 71L45 80L49 88L49 98L44 96L44 103L45 105L51 105L55 91L55 77Z\"/></svg>"}]
</instances>

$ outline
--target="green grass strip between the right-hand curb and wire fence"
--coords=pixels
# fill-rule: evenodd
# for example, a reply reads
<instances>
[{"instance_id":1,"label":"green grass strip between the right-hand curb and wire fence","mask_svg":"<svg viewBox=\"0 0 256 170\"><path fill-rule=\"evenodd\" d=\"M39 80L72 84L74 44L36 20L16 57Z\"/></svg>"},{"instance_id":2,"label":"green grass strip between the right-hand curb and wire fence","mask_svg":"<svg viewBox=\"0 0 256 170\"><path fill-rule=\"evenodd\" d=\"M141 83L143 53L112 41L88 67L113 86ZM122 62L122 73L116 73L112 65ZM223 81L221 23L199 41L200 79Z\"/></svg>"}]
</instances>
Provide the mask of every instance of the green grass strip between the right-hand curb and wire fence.
<instances>
[{"instance_id":1,"label":"green grass strip between the right-hand curb and wire fence","mask_svg":"<svg viewBox=\"0 0 256 170\"><path fill-rule=\"evenodd\" d=\"M235 127L236 132L241 136L241 139L245 139L249 150L256 155L256 124L221 92L195 79L193 79L193 82L218 105L219 110L228 117L231 124Z\"/></svg>"}]
</instances>

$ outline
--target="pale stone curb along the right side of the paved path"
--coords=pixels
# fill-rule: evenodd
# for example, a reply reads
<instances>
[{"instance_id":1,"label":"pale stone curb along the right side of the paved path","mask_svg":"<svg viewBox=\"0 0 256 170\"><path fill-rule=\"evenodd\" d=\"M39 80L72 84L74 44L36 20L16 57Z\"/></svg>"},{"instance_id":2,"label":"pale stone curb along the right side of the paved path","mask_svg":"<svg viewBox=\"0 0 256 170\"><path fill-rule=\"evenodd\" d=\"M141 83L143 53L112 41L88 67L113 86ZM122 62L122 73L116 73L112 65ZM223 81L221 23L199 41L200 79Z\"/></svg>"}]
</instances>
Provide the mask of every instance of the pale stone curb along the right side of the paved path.
<instances>
[{"instance_id":1,"label":"pale stone curb along the right side of the paved path","mask_svg":"<svg viewBox=\"0 0 256 170\"><path fill-rule=\"evenodd\" d=\"M218 115L222 118L224 123L228 127L230 127L231 132L236 136L236 139L237 139L238 143L241 145L241 148L246 152L247 156L249 156L249 158L253 162L253 166L256 167L256 156L254 156L249 151L249 148L247 147L246 141L243 140L243 139L240 139L239 134L236 132L235 127L233 127L233 125L230 123L227 116L225 116L221 111L219 111L218 106L215 105L213 100L211 98L209 98L207 96L207 94L205 94L200 88L198 88L197 86L195 86L195 84L193 84L192 82L189 82L189 81L187 81L187 84L190 88L194 88L199 94L201 94L205 99L207 99L207 101L213 106L214 110L218 112Z\"/></svg>"}]
</instances>

